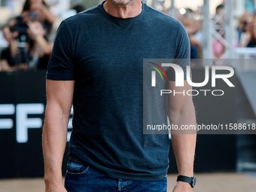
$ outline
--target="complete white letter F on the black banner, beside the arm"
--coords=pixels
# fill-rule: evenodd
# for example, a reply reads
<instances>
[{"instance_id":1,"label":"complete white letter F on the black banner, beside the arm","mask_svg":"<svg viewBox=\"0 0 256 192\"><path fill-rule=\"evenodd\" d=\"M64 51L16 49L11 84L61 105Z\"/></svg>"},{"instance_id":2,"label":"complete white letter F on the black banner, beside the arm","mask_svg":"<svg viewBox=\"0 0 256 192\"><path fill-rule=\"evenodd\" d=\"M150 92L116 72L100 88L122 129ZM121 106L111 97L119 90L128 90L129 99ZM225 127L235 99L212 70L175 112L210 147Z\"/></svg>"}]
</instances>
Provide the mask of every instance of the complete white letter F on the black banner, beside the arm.
<instances>
[{"instance_id":1,"label":"complete white letter F on the black banner, beside the arm","mask_svg":"<svg viewBox=\"0 0 256 192\"><path fill-rule=\"evenodd\" d=\"M16 139L18 143L28 142L28 129L29 128L41 128L43 122L41 118L28 117L28 114L43 114L44 104L18 104L16 106Z\"/></svg>"}]
</instances>

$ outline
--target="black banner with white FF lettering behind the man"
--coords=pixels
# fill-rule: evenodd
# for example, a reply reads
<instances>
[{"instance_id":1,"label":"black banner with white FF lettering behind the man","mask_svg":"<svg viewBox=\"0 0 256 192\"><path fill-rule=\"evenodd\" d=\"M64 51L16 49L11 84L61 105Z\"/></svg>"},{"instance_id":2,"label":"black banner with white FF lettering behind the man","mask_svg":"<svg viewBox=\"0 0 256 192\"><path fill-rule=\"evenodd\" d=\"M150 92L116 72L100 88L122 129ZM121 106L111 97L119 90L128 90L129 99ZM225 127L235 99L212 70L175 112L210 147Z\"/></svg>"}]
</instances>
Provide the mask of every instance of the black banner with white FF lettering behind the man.
<instances>
[{"instance_id":1,"label":"black banner with white FF lettering behind the man","mask_svg":"<svg viewBox=\"0 0 256 192\"><path fill-rule=\"evenodd\" d=\"M194 70L195 80L200 81L202 72L201 69ZM223 90L226 88L222 87ZM2 72L0 90L0 178L41 177L44 175L41 133L46 105L45 72ZM203 95L194 97L197 123L236 120L236 96L228 90L225 94L226 99L222 100ZM69 123L69 134L71 128ZM66 149L63 173L68 158ZM171 149L169 172L176 172L175 167ZM198 136L196 172L235 169L235 135Z\"/></svg>"}]
</instances>

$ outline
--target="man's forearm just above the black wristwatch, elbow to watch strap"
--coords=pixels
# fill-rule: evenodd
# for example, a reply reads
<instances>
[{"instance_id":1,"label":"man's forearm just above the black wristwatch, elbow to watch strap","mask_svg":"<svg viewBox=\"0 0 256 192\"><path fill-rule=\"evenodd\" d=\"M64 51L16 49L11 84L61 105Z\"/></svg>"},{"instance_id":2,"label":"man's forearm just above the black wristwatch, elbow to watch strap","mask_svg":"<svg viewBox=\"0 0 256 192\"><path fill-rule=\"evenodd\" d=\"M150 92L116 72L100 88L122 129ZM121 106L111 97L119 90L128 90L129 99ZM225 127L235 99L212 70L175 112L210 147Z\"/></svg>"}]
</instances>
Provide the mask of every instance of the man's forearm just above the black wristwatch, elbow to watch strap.
<instances>
[{"instance_id":1,"label":"man's forearm just above the black wristwatch, elbow to watch strap","mask_svg":"<svg viewBox=\"0 0 256 192\"><path fill-rule=\"evenodd\" d=\"M185 110L170 110L169 117L170 122L177 125L178 128L181 128L181 125L196 125L194 105L192 102ZM196 131L188 132L189 134L186 134L187 130L178 130L176 133L172 131L172 148L175 153L178 174L193 176L197 135Z\"/></svg>"}]
</instances>

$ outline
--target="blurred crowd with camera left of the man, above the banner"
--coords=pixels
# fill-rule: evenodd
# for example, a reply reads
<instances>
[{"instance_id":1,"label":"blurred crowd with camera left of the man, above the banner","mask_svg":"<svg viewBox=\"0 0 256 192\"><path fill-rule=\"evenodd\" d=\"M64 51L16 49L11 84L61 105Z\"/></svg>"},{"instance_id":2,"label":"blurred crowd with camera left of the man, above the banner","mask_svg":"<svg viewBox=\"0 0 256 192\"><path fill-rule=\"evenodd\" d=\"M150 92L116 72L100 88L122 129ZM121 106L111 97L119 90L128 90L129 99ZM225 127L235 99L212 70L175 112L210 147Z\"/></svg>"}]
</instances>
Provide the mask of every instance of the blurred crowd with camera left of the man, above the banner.
<instances>
[{"instance_id":1,"label":"blurred crowd with camera left of the man, above the banner","mask_svg":"<svg viewBox=\"0 0 256 192\"><path fill-rule=\"evenodd\" d=\"M85 8L76 5L72 10L77 14ZM44 0L26 0L20 15L10 18L1 28L8 47L2 50L0 71L47 69L56 34L55 21L56 16Z\"/></svg>"}]
</instances>

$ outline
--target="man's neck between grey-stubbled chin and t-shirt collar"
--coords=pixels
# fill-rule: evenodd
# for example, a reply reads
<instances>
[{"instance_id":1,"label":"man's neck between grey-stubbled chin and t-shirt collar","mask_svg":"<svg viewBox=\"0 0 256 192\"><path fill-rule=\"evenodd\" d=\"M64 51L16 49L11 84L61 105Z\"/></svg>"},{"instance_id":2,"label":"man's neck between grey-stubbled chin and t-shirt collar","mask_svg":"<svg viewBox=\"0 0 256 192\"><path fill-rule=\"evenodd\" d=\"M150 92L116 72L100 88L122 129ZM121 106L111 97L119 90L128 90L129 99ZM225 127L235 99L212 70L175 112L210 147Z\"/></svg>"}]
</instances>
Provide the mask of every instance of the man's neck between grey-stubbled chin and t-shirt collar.
<instances>
[{"instance_id":1,"label":"man's neck between grey-stubbled chin and t-shirt collar","mask_svg":"<svg viewBox=\"0 0 256 192\"><path fill-rule=\"evenodd\" d=\"M142 1L134 0L129 5L119 6L114 4L111 0L107 0L107 2L103 4L103 8L111 16L126 19L136 17L142 12Z\"/></svg>"}]
</instances>

